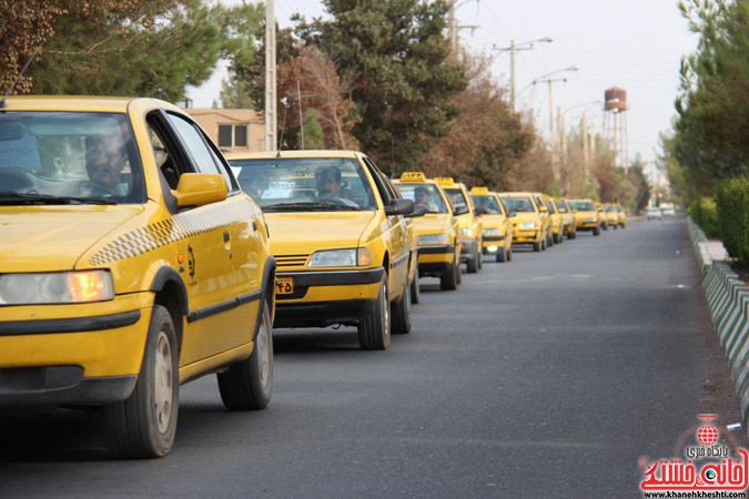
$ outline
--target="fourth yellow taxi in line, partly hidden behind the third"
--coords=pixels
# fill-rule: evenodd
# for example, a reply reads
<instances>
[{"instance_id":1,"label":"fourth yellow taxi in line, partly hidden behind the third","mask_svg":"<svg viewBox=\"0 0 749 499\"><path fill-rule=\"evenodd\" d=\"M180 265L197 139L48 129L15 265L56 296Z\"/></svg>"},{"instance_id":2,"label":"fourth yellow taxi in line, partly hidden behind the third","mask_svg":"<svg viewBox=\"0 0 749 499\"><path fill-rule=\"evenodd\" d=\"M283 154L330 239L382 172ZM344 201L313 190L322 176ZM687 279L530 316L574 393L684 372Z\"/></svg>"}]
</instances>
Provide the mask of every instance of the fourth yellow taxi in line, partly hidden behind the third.
<instances>
[{"instance_id":1,"label":"fourth yellow taxi in line, partly hidden behind the third","mask_svg":"<svg viewBox=\"0 0 749 499\"><path fill-rule=\"evenodd\" d=\"M468 274L477 273L483 265L482 262L482 241L484 227L482 221L475 212L475 206L470 201L470 195L465 184L455 182L451 176L437 176L434 179L445 191L453 210L460 206L468 206L468 212L458 215L458 225L460 227L460 262L466 263Z\"/></svg>"}]
</instances>

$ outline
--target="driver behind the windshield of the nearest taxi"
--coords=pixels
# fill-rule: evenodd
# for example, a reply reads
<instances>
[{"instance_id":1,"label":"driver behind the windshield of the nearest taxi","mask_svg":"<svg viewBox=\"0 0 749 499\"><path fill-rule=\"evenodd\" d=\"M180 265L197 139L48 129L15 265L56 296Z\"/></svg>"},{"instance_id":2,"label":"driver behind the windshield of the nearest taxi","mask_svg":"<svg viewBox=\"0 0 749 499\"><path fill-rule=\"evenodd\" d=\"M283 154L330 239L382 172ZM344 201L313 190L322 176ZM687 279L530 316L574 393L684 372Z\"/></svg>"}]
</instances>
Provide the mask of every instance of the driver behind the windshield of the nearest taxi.
<instances>
[{"instance_id":1,"label":"driver behind the windshield of the nearest taxi","mask_svg":"<svg viewBox=\"0 0 749 499\"><path fill-rule=\"evenodd\" d=\"M94 187L114 194L122 171L128 165L128 152L118 135L91 135L85 141L85 172Z\"/></svg>"}]
</instances>

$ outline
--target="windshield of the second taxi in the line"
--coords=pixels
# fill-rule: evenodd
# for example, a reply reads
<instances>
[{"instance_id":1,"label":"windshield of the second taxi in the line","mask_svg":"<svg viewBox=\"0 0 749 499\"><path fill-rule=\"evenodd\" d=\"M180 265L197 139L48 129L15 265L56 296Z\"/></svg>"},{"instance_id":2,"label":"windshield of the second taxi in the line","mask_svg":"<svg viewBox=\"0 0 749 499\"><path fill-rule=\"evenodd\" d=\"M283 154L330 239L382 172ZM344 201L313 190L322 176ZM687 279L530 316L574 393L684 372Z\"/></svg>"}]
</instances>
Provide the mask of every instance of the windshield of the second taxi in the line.
<instances>
[{"instance_id":1,"label":"windshield of the second taxi in the line","mask_svg":"<svg viewBox=\"0 0 749 499\"><path fill-rule=\"evenodd\" d=\"M242 186L265 212L377 210L354 157L230 160Z\"/></svg>"}]
</instances>

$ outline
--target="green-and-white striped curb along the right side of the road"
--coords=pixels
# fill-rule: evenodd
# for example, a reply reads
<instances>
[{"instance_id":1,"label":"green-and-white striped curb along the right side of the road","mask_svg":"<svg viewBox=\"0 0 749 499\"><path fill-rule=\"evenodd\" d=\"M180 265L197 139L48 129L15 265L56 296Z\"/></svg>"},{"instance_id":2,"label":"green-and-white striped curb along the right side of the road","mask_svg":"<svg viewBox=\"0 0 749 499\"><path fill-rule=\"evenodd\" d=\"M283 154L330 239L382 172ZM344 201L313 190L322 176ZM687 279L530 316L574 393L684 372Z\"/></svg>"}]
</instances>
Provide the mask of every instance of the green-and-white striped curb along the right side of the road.
<instances>
[{"instance_id":1,"label":"green-and-white striped curb along the right side of the road","mask_svg":"<svg viewBox=\"0 0 749 499\"><path fill-rule=\"evenodd\" d=\"M743 428L749 435L749 287L722 261L713 261L705 233L688 218L689 237L702 273L702 288L712 324L726 350Z\"/></svg>"}]
</instances>

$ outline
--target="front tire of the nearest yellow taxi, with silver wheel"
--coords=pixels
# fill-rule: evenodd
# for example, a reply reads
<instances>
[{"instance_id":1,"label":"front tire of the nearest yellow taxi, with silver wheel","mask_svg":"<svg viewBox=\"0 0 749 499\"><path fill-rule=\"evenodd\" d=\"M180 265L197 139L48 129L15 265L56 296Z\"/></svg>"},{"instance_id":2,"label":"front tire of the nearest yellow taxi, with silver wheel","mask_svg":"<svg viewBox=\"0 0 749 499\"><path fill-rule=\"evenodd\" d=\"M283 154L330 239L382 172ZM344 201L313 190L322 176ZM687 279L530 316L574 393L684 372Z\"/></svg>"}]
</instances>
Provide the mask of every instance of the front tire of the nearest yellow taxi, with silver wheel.
<instances>
[{"instance_id":1,"label":"front tire of the nearest yellow taxi, with silver wheel","mask_svg":"<svg viewBox=\"0 0 749 499\"><path fill-rule=\"evenodd\" d=\"M172 449L179 411L178 353L172 316L154 305L135 388L125 400L101 409L102 432L113 454L154 458Z\"/></svg>"}]
</instances>

